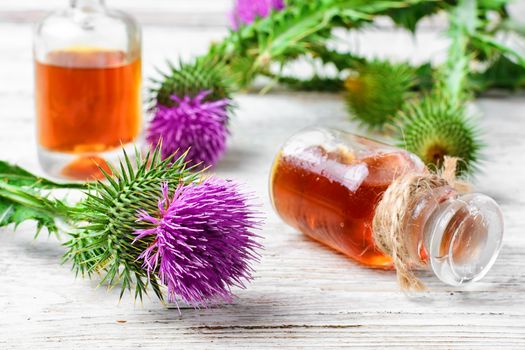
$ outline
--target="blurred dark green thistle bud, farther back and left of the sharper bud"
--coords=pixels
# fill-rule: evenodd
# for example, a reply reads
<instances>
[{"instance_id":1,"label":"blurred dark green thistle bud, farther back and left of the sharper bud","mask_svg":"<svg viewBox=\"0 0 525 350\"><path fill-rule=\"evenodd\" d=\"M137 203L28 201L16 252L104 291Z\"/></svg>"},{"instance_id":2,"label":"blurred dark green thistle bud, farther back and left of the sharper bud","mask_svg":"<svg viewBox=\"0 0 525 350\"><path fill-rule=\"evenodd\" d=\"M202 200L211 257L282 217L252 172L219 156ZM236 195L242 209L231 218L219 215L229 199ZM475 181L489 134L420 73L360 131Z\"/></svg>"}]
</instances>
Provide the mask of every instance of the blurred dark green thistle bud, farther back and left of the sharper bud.
<instances>
[{"instance_id":1,"label":"blurred dark green thistle bud, farther back and left of the sharper bud","mask_svg":"<svg viewBox=\"0 0 525 350\"><path fill-rule=\"evenodd\" d=\"M374 60L355 73L345 81L351 117L370 129L382 129L411 97L415 72L407 64Z\"/></svg>"}]
</instances>

